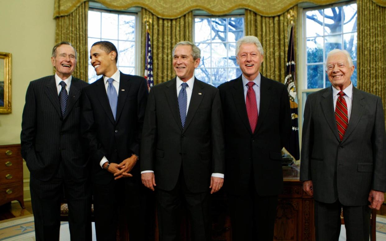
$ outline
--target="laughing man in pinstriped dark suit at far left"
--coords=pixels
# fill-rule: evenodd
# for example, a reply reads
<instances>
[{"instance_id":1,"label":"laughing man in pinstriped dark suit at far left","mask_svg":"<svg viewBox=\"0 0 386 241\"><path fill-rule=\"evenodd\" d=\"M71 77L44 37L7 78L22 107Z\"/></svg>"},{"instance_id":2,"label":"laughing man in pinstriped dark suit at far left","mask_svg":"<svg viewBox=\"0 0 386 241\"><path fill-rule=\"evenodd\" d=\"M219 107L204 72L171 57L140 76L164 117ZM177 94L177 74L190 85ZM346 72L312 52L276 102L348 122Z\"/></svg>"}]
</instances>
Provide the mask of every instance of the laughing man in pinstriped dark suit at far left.
<instances>
[{"instance_id":1,"label":"laughing man in pinstriped dark suit at far left","mask_svg":"<svg viewBox=\"0 0 386 241\"><path fill-rule=\"evenodd\" d=\"M71 240L91 239L88 157L80 141L80 95L87 83L71 76L76 51L69 42L52 49L53 76L31 81L20 135L30 171L36 240L59 240L60 202L68 201Z\"/></svg>"}]
</instances>

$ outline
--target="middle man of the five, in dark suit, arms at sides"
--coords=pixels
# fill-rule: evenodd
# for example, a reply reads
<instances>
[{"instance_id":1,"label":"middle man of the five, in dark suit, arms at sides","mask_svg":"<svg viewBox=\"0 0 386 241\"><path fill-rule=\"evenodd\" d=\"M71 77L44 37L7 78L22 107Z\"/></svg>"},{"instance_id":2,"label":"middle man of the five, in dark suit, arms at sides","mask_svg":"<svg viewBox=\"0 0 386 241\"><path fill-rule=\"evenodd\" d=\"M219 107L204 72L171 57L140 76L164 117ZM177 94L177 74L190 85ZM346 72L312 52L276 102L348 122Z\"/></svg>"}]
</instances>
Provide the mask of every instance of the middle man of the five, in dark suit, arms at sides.
<instances>
[{"instance_id":1,"label":"middle man of the five, in dark suit, arms at sides","mask_svg":"<svg viewBox=\"0 0 386 241\"><path fill-rule=\"evenodd\" d=\"M200 49L188 41L173 49L177 77L149 94L142 135L142 183L156 188L159 240L181 238L185 201L193 241L211 240L209 192L223 184L222 110L218 89L194 77Z\"/></svg>"}]
</instances>

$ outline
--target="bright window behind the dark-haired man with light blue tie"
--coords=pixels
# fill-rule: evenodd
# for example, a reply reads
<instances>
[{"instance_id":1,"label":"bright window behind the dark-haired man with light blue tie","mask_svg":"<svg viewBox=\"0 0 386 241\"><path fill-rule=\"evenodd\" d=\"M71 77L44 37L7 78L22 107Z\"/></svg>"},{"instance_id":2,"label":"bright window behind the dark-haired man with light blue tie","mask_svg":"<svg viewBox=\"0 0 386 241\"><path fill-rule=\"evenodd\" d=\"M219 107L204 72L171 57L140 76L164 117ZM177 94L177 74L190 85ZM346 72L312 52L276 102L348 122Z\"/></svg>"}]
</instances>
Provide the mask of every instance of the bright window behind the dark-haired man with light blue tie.
<instances>
[{"instance_id":1,"label":"bright window behind the dark-haired man with light blue tie","mask_svg":"<svg viewBox=\"0 0 386 241\"><path fill-rule=\"evenodd\" d=\"M137 72L136 42L137 14L126 12L112 12L99 9L88 11L88 51L93 43L110 41L118 50L118 69L125 74ZM138 28L139 29L139 28ZM137 41L139 42L139 41ZM97 76L91 61L88 61L88 83L93 83L101 76Z\"/></svg>"}]
</instances>

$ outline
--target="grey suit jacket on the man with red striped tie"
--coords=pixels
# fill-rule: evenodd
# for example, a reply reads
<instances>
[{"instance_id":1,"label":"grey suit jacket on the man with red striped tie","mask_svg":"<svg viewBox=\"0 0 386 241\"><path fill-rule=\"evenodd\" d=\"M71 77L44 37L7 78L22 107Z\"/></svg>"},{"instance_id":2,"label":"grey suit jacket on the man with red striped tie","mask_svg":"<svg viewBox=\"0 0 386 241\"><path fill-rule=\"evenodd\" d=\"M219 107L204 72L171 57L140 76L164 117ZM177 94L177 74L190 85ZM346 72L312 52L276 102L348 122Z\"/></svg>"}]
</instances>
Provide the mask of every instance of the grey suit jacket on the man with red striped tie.
<instances>
[{"instance_id":1,"label":"grey suit jacket on the man with red striped tie","mask_svg":"<svg viewBox=\"0 0 386 241\"><path fill-rule=\"evenodd\" d=\"M332 87L307 97L300 180L314 198L345 206L367 204L371 189L386 191L386 134L381 98L353 88L349 126L340 142Z\"/></svg>"}]
</instances>

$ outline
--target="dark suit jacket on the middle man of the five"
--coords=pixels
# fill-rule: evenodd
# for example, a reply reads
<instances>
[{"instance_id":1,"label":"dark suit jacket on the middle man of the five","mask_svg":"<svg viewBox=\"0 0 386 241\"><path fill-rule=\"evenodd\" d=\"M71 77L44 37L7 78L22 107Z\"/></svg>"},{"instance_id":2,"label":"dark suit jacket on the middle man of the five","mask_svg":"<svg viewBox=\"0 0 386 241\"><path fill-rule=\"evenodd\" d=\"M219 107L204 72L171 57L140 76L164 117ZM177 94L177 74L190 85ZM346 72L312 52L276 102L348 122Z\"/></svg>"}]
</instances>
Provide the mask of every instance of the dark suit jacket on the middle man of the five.
<instances>
[{"instance_id":1,"label":"dark suit jacket on the middle man of the five","mask_svg":"<svg viewBox=\"0 0 386 241\"><path fill-rule=\"evenodd\" d=\"M153 170L157 188L172 190L182 168L191 192L209 190L224 173L223 121L218 89L195 79L182 128L176 78L152 87L142 135L141 170Z\"/></svg>"}]
</instances>

